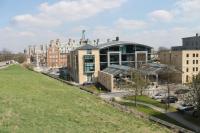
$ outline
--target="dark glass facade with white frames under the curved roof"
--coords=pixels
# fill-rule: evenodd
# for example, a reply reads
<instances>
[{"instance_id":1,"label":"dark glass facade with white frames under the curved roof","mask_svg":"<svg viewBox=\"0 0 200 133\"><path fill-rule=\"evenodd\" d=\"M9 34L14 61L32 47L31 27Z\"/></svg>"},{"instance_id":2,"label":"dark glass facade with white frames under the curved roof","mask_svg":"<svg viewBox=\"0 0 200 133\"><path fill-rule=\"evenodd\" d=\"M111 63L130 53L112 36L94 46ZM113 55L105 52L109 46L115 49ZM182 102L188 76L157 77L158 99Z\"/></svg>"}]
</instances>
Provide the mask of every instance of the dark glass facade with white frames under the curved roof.
<instances>
[{"instance_id":1,"label":"dark glass facade with white frames under the curved roof","mask_svg":"<svg viewBox=\"0 0 200 133\"><path fill-rule=\"evenodd\" d=\"M116 54L117 52L119 54ZM137 61L135 61L135 59ZM151 59L151 47L141 44L120 43L100 48L101 70L107 68L111 64L135 67L136 64L146 63L146 59L147 61Z\"/></svg>"}]
</instances>

